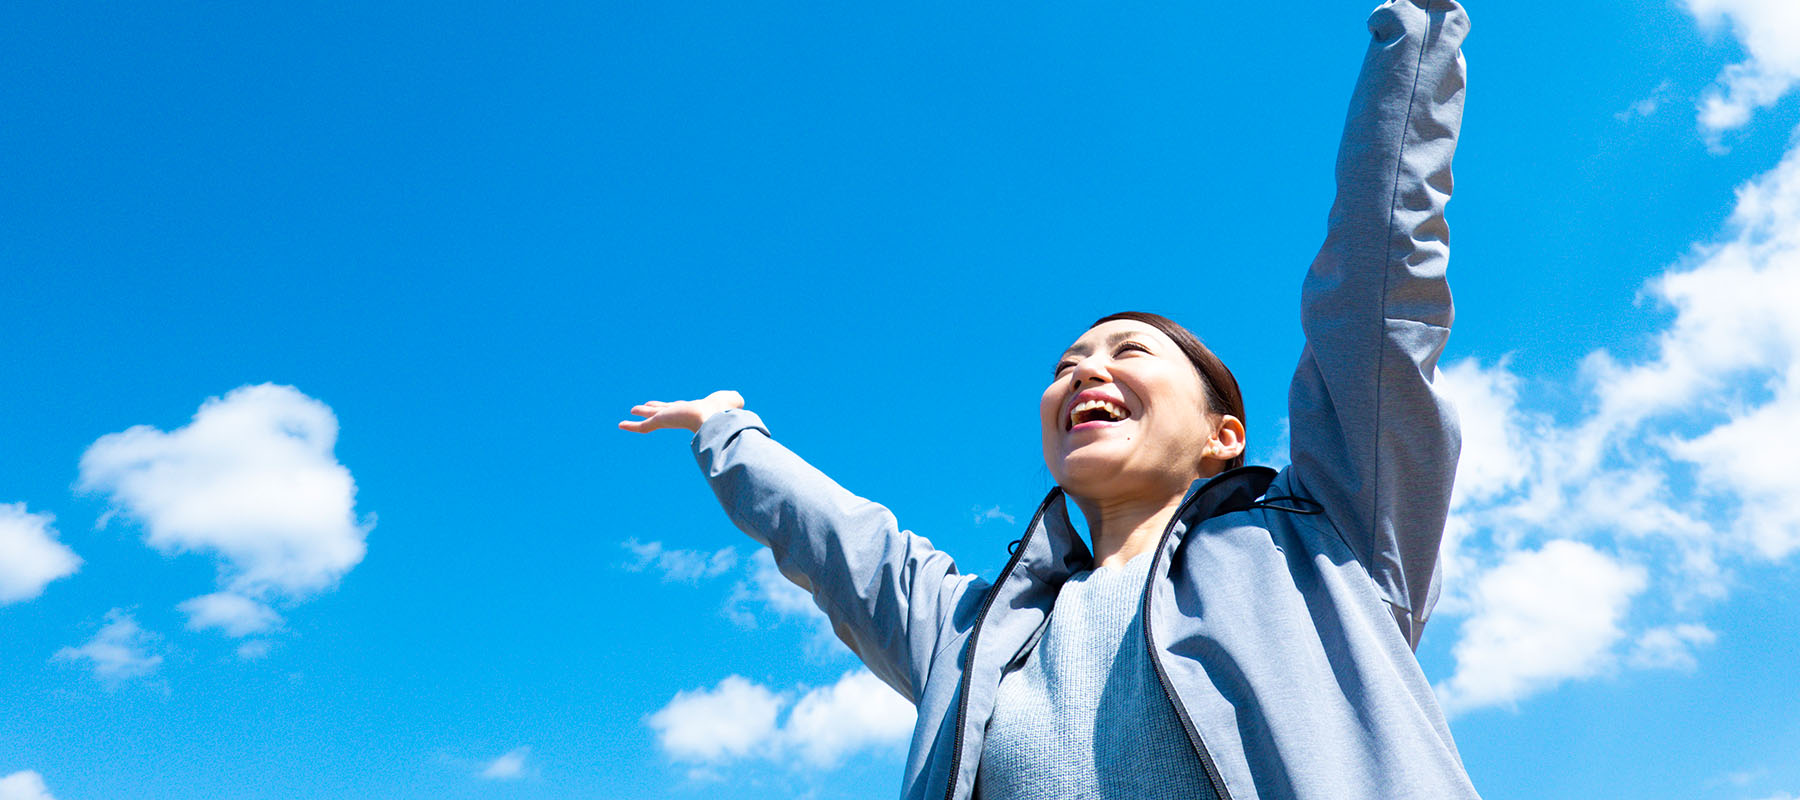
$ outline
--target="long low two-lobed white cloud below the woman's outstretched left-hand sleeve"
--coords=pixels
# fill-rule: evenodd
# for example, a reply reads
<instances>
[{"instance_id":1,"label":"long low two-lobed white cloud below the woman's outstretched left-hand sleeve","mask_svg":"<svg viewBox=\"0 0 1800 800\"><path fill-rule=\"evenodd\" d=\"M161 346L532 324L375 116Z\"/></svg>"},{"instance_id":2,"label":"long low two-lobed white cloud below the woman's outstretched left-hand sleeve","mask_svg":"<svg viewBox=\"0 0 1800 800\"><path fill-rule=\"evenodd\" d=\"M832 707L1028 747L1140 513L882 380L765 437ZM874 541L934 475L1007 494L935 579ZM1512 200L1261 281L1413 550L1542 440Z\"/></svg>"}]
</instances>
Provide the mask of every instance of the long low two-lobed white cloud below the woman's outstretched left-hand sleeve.
<instances>
[{"instance_id":1,"label":"long low two-lobed white cloud below the woman's outstretched left-hand sleeve","mask_svg":"<svg viewBox=\"0 0 1800 800\"><path fill-rule=\"evenodd\" d=\"M916 714L893 688L859 668L830 686L787 692L727 676L711 690L679 692L646 724L679 762L758 759L832 768L851 753L905 744Z\"/></svg>"}]
</instances>

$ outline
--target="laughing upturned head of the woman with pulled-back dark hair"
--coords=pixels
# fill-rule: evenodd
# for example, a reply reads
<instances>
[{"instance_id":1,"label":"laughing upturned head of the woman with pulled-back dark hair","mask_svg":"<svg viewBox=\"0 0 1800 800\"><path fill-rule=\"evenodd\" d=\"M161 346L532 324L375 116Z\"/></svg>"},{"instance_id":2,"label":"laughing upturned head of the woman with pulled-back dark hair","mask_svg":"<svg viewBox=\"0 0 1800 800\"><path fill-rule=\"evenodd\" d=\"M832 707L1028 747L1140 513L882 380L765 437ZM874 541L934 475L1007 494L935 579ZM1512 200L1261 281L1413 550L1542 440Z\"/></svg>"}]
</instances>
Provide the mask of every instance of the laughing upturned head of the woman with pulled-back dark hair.
<instances>
[{"instance_id":1,"label":"laughing upturned head of the woman with pulled-back dark hair","mask_svg":"<svg viewBox=\"0 0 1800 800\"><path fill-rule=\"evenodd\" d=\"M1039 418L1049 474L1085 501L1186 492L1213 436L1193 364L1163 332L1129 319L1069 346Z\"/></svg>"}]
</instances>

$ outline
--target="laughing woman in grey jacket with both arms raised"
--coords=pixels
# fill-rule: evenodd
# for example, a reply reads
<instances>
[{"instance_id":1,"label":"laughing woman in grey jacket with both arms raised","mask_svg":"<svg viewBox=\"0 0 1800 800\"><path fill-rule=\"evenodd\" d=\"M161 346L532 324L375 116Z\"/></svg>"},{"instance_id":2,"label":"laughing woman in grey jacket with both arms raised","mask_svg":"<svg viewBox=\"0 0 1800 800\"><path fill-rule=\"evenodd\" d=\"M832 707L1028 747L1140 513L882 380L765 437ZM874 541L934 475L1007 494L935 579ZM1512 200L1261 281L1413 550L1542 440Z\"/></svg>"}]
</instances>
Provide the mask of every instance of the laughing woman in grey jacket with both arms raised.
<instances>
[{"instance_id":1,"label":"laughing woman in grey jacket with both arms raised","mask_svg":"<svg viewBox=\"0 0 1800 800\"><path fill-rule=\"evenodd\" d=\"M1229 371L1143 314L1057 362L1040 425L1058 488L992 584L778 445L736 393L621 423L695 431L733 521L918 706L904 796L1474 796L1413 658L1458 452L1431 378L1467 18L1393 0L1370 32L1280 474L1238 467Z\"/></svg>"}]
</instances>

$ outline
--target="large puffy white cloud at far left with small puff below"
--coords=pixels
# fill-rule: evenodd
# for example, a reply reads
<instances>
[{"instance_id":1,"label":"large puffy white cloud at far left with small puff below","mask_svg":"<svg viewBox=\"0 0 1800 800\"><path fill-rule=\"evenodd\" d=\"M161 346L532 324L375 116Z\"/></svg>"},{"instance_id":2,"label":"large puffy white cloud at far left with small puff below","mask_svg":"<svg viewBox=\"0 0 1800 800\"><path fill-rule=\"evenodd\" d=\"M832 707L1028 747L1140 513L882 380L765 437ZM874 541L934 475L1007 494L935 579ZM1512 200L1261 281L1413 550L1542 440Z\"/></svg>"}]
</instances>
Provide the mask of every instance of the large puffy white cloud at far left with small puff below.
<instances>
[{"instance_id":1,"label":"large puffy white cloud at far left with small puff below","mask_svg":"<svg viewBox=\"0 0 1800 800\"><path fill-rule=\"evenodd\" d=\"M243 636L279 623L252 604L326 591L362 562L371 524L356 521L337 432L326 404L290 386L245 386L171 432L101 436L81 456L79 485L106 492L157 550L216 555L236 600L207 595L182 609L191 627Z\"/></svg>"}]
</instances>

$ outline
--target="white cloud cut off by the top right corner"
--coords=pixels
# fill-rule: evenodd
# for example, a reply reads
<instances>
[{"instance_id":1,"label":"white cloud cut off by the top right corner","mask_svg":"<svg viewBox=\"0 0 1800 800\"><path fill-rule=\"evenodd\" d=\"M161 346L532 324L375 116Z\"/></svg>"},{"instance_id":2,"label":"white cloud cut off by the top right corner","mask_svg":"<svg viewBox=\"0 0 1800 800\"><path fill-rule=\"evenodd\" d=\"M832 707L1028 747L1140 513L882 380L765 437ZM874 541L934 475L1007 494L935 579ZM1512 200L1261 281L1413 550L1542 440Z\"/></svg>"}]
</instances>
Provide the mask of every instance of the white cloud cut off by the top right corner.
<instances>
[{"instance_id":1,"label":"white cloud cut off by the top right corner","mask_svg":"<svg viewBox=\"0 0 1800 800\"><path fill-rule=\"evenodd\" d=\"M1800 4L1793 0L1685 0L1708 31L1730 25L1746 59L1726 67L1701 99L1699 123L1710 133L1741 128L1757 108L1775 105L1800 83Z\"/></svg>"}]
</instances>

